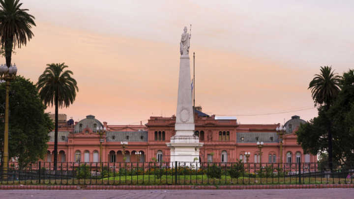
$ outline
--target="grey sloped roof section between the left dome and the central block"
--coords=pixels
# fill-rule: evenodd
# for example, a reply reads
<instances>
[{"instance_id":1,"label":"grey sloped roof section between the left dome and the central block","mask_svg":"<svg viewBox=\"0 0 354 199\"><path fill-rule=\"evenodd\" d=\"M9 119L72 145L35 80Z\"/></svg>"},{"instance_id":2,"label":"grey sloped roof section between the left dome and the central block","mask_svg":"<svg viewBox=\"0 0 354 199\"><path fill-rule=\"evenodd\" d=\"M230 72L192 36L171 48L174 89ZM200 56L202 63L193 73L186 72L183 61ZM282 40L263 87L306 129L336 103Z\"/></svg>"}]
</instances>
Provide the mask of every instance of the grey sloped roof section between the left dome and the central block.
<instances>
[{"instance_id":1,"label":"grey sloped roof section between the left dome and the central block","mask_svg":"<svg viewBox=\"0 0 354 199\"><path fill-rule=\"evenodd\" d=\"M148 131L108 131L106 133L106 141L148 142Z\"/></svg>"}]
</instances>

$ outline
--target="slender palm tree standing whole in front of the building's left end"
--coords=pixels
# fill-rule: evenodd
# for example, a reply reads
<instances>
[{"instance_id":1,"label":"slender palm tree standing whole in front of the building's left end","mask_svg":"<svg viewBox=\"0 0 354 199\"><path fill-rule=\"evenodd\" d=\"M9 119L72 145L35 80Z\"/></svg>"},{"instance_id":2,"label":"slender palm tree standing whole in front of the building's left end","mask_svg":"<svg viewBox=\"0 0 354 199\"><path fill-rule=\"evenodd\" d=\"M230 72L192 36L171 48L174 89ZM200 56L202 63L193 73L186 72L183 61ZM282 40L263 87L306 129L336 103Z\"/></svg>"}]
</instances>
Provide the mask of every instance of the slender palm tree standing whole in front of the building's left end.
<instances>
[{"instance_id":1,"label":"slender palm tree standing whole in front of the building's left end","mask_svg":"<svg viewBox=\"0 0 354 199\"><path fill-rule=\"evenodd\" d=\"M79 91L76 80L70 75L73 72L63 70L64 63L47 64L47 68L38 78L39 97L45 105L55 106L55 138L54 138L54 169L57 170L58 159L58 108L69 107Z\"/></svg>"}]
</instances>

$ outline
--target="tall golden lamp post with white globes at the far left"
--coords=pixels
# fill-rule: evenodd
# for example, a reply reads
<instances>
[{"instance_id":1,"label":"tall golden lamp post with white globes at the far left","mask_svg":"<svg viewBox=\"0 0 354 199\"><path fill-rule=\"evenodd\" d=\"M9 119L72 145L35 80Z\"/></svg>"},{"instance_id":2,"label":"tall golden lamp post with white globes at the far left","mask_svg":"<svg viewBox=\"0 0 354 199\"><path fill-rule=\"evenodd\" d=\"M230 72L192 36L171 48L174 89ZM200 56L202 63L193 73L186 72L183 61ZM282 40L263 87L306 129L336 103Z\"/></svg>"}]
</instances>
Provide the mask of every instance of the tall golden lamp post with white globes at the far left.
<instances>
[{"instance_id":1,"label":"tall golden lamp post with white globes at the far left","mask_svg":"<svg viewBox=\"0 0 354 199\"><path fill-rule=\"evenodd\" d=\"M4 128L4 149L3 149L3 178L7 179L8 166L8 111L9 111L9 91L10 82L15 79L17 73L16 64L7 67L6 64L0 66L0 80L5 81L5 128Z\"/></svg>"}]
</instances>

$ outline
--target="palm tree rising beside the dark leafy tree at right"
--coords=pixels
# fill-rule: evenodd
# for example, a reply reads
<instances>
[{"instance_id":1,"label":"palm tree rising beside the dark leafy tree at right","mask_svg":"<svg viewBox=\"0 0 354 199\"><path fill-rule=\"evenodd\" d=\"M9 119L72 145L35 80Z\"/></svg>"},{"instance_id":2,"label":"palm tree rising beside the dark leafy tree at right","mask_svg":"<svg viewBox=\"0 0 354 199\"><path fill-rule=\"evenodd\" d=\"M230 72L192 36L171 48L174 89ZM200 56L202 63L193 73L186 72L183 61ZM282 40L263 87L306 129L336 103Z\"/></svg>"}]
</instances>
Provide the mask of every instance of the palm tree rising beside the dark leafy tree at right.
<instances>
[{"instance_id":1,"label":"palm tree rising beside the dark leafy tree at right","mask_svg":"<svg viewBox=\"0 0 354 199\"><path fill-rule=\"evenodd\" d=\"M312 99L316 104L323 104L324 110L327 111L330 105L334 102L340 91L341 77L336 75L331 66L321 66L321 74L315 75L315 78L310 82L308 89L311 88ZM327 126L328 138L328 166L332 170L332 134L331 123L328 120Z\"/></svg>"}]
</instances>

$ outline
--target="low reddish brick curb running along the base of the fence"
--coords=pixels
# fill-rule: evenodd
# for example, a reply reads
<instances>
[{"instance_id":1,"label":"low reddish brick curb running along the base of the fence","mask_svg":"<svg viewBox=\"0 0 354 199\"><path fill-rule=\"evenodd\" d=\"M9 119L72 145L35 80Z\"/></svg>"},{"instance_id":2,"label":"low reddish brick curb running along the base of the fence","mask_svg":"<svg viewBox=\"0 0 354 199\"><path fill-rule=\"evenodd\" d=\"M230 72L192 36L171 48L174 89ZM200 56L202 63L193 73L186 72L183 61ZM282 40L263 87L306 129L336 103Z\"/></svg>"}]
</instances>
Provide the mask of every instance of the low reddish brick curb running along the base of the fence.
<instances>
[{"instance_id":1,"label":"low reddish brick curb running along the base of the fence","mask_svg":"<svg viewBox=\"0 0 354 199\"><path fill-rule=\"evenodd\" d=\"M0 190L146 190L146 189L325 189L354 188L354 184L307 185L0 185Z\"/></svg>"}]
</instances>

